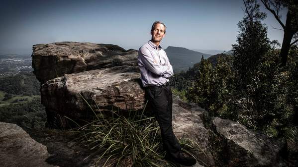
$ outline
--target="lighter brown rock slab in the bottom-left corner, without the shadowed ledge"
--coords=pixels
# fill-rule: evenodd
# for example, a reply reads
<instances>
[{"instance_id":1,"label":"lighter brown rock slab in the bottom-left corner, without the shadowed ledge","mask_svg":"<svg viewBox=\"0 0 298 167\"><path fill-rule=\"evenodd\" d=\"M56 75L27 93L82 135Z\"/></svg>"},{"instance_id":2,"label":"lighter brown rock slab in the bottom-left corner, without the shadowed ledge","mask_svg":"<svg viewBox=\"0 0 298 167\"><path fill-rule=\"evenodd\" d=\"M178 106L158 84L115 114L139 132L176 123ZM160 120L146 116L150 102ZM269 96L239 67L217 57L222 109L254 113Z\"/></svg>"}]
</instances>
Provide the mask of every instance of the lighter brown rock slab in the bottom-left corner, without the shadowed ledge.
<instances>
[{"instance_id":1,"label":"lighter brown rock slab in the bottom-left corner, without the shadowed ledge","mask_svg":"<svg viewBox=\"0 0 298 167\"><path fill-rule=\"evenodd\" d=\"M0 122L1 167L54 167L45 160L47 147L33 140L16 124Z\"/></svg>"}]
</instances>

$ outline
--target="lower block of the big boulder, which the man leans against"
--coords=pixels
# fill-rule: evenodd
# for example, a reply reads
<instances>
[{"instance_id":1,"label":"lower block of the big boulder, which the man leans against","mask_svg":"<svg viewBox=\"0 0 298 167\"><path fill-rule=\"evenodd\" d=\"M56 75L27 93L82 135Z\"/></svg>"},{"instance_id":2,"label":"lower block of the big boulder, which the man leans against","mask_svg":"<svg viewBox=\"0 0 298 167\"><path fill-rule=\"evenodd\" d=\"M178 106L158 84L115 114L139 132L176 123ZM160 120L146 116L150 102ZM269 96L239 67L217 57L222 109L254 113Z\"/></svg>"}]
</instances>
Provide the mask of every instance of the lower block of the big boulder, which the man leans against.
<instances>
[{"instance_id":1,"label":"lower block of the big boulder, which the man leans against","mask_svg":"<svg viewBox=\"0 0 298 167\"><path fill-rule=\"evenodd\" d=\"M47 81L41 86L41 103L50 126L67 127L64 116L86 119L94 115L89 105L97 113L138 110L144 108L145 99L138 67L115 66Z\"/></svg>"}]
</instances>

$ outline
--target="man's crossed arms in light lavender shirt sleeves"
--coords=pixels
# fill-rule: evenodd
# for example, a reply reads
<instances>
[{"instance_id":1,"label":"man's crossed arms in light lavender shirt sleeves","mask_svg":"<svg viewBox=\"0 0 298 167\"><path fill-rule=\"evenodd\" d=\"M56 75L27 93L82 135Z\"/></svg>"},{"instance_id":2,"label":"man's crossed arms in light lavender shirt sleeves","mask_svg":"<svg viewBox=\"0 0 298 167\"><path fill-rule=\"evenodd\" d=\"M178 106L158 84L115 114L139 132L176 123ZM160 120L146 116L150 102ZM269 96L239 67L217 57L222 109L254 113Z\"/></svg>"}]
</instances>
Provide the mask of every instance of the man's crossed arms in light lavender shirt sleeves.
<instances>
[{"instance_id":1,"label":"man's crossed arms in light lavender shirt sleeves","mask_svg":"<svg viewBox=\"0 0 298 167\"><path fill-rule=\"evenodd\" d=\"M144 63L144 66L149 69L152 73L160 75L165 78L171 77L173 73L173 67L169 62L167 57L167 62L165 65L161 65L157 62L154 57L151 55L150 51L146 48L140 48L139 57Z\"/></svg>"}]
</instances>

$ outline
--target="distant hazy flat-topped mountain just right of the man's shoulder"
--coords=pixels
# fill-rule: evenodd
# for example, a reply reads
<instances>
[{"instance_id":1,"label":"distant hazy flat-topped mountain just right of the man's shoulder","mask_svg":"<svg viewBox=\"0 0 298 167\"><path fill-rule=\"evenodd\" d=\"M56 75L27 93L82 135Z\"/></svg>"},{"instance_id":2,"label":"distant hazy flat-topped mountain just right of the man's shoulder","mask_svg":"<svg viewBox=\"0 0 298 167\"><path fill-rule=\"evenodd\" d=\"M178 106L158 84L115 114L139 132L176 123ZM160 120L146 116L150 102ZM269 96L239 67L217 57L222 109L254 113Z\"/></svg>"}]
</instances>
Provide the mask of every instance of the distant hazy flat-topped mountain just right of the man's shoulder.
<instances>
[{"instance_id":1,"label":"distant hazy flat-topped mountain just right of the man's shoulder","mask_svg":"<svg viewBox=\"0 0 298 167\"><path fill-rule=\"evenodd\" d=\"M165 49L165 52L167 53L175 72L188 70L189 67L198 63L202 56L204 56L204 58L211 56L209 54L203 54L186 48L172 46Z\"/></svg>"}]
</instances>

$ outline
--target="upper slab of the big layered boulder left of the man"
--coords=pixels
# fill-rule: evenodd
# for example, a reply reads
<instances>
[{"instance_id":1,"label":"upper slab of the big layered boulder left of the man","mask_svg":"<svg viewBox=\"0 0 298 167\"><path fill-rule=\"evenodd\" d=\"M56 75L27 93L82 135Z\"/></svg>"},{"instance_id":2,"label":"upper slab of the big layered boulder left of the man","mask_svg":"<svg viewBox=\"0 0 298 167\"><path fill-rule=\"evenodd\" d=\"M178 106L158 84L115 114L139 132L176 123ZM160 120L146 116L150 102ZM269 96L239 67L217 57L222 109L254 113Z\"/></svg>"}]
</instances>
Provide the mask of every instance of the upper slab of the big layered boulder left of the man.
<instances>
[{"instance_id":1,"label":"upper slab of the big layered boulder left of the man","mask_svg":"<svg viewBox=\"0 0 298 167\"><path fill-rule=\"evenodd\" d=\"M32 67L44 83L64 74L120 65L135 66L136 50L125 51L116 45L56 42L33 45Z\"/></svg>"}]
</instances>

